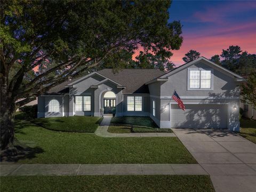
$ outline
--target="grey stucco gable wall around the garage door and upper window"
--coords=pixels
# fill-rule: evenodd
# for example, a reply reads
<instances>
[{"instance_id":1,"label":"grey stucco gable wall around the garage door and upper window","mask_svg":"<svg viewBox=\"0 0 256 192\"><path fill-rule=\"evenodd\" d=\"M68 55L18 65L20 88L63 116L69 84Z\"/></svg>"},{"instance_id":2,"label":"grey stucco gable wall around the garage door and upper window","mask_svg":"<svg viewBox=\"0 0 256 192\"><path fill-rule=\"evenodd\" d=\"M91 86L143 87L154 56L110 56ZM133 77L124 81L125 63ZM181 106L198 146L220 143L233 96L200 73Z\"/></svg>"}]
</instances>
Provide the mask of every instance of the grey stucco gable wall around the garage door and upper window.
<instances>
[{"instance_id":1,"label":"grey stucco gable wall around the garage door and upper window","mask_svg":"<svg viewBox=\"0 0 256 192\"><path fill-rule=\"evenodd\" d=\"M211 69L213 72L211 74L213 81L213 90L188 90L188 68L202 68L205 70ZM173 91L176 90L180 98L185 103L185 107L186 103L187 105L194 103L198 106L198 110L201 110L204 104L210 105L211 103L219 105L220 103L222 103L223 105L227 105L227 127L230 130L239 130L240 90L238 84L234 81L233 76L223 73L223 71L220 71L216 67L207 65L205 61L195 63L195 65L189 66L188 68L180 70L177 73L169 76L167 82L161 82L161 96L156 95L157 99L161 99L159 106L159 111L161 113L159 118L160 127L171 127L169 103L176 103L174 100L171 99ZM236 106L236 110L234 110L234 106ZM216 108L216 111L218 111L218 108L221 109L222 107L217 106L212 108Z\"/></svg>"}]
</instances>

